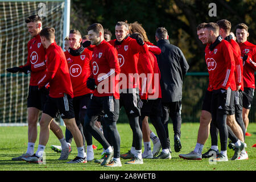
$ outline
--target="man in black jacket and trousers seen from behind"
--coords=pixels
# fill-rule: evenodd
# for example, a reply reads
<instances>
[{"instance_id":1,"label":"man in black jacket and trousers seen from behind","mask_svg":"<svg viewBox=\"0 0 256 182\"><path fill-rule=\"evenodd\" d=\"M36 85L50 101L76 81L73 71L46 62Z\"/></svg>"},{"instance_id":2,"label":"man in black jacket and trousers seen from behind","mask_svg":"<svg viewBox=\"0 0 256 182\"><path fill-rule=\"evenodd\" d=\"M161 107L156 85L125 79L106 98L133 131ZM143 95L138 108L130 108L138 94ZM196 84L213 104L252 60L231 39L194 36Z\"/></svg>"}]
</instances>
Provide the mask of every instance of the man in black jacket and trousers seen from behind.
<instances>
[{"instance_id":1,"label":"man in black jacket and trousers seen from behind","mask_svg":"<svg viewBox=\"0 0 256 182\"><path fill-rule=\"evenodd\" d=\"M174 127L174 149L179 152L181 149L181 97L182 85L189 65L183 52L176 46L170 44L166 28L159 27L156 30L155 39L162 53L156 55L160 69L160 86L162 89L162 122L166 129L167 140L170 146L168 135L169 114Z\"/></svg>"}]
</instances>

